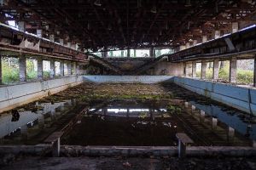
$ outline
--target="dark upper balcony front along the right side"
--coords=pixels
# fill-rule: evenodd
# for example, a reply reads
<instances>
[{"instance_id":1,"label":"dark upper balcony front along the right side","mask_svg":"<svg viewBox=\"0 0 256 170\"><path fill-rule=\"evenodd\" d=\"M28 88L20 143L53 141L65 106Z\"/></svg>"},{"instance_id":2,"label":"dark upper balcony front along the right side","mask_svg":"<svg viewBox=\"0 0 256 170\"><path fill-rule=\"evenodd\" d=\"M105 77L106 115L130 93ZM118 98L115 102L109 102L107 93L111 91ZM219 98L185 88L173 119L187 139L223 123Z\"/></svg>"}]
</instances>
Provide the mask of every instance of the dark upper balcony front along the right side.
<instances>
[{"instance_id":1,"label":"dark upper balcony front along the right side","mask_svg":"<svg viewBox=\"0 0 256 170\"><path fill-rule=\"evenodd\" d=\"M230 41L230 44L227 41ZM229 45L233 46L234 49L230 48ZM255 52L256 26L178 51L175 54L169 54L168 58L171 62L178 62L184 59L215 58L218 55L230 57L234 54L254 54Z\"/></svg>"}]
</instances>

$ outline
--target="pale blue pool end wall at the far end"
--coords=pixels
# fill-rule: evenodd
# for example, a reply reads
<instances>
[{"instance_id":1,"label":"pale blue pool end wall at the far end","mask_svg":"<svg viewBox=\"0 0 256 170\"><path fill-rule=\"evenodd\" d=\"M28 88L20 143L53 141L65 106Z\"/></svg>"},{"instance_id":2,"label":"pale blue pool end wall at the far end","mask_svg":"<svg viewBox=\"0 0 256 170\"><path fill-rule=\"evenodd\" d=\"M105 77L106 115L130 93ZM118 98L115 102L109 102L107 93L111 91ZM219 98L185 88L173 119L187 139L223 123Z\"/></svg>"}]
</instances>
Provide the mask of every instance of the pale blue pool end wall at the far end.
<instances>
[{"instance_id":1,"label":"pale blue pool end wall at the far end","mask_svg":"<svg viewBox=\"0 0 256 170\"><path fill-rule=\"evenodd\" d=\"M172 76L84 76L84 82L157 83L172 82Z\"/></svg>"}]
</instances>

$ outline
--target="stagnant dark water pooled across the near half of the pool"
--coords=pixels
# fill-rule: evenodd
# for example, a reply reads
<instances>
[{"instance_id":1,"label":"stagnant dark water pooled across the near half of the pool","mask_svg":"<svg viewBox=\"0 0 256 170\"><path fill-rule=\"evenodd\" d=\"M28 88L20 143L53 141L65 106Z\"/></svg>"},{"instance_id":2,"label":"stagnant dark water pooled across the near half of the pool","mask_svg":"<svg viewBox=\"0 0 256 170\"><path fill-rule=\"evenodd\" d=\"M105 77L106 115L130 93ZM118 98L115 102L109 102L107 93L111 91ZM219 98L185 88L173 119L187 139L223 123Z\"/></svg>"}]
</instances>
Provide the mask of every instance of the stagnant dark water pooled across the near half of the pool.
<instances>
[{"instance_id":1,"label":"stagnant dark water pooled across the near half of the pool","mask_svg":"<svg viewBox=\"0 0 256 170\"><path fill-rule=\"evenodd\" d=\"M39 144L77 117L61 144L177 145L176 133L186 133L192 145L252 145L256 117L191 93L164 85L174 100L67 100L36 104L32 111L0 116L1 144ZM191 111L194 105L195 111ZM81 112L88 107L86 113ZM35 109L36 108L36 109ZM80 113L80 114L79 114ZM78 116L79 115L79 116Z\"/></svg>"}]
</instances>

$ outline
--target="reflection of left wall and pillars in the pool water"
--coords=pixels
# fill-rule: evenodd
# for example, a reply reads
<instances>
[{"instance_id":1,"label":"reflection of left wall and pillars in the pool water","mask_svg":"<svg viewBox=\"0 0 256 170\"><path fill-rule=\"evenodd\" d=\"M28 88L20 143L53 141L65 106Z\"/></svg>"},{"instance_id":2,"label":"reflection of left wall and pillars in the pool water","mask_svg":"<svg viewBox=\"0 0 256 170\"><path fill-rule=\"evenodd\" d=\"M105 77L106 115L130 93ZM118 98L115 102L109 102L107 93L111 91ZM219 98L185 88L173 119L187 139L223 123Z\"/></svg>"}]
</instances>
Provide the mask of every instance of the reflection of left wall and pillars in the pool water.
<instances>
[{"instance_id":1,"label":"reflection of left wall and pillars in the pool water","mask_svg":"<svg viewBox=\"0 0 256 170\"><path fill-rule=\"evenodd\" d=\"M74 104L66 100L59 103L41 103L33 105L31 111L24 109L12 110L0 116L1 144L37 144L40 140L33 139L38 133L51 126L61 114ZM44 132L49 135L50 131ZM42 138L43 139L43 138Z\"/></svg>"}]
</instances>

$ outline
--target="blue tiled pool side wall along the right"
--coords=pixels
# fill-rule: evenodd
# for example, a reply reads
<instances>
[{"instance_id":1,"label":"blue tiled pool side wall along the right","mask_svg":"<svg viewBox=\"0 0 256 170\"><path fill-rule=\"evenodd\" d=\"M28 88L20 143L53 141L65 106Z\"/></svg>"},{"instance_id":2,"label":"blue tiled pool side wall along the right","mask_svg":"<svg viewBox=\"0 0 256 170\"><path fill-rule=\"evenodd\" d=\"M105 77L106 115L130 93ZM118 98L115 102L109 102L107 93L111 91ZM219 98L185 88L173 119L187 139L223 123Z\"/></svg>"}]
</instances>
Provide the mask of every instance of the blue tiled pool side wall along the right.
<instances>
[{"instance_id":1,"label":"blue tiled pool side wall along the right","mask_svg":"<svg viewBox=\"0 0 256 170\"><path fill-rule=\"evenodd\" d=\"M238 110L247 113L252 112L256 116L256 89L186 77L174 77L173 80L183 88L222 102L225 105L230 105Z\"/></svg>"}]
</instances>

